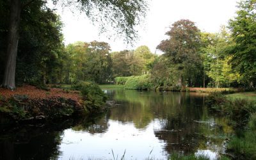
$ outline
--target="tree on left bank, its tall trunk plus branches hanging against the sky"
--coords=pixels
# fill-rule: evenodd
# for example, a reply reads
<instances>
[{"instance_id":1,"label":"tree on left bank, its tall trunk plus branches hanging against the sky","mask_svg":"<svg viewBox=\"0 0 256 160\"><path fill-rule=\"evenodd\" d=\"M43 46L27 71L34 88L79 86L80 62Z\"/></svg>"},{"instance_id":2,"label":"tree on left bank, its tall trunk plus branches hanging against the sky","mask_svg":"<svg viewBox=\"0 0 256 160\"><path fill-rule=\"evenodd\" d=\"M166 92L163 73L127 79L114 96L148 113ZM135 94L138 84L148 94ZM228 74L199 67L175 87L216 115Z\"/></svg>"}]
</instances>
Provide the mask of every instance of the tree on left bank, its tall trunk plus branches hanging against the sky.
<instances>
[{"instance_id":1,"label":"tree on left bank, its tall trunk plus branches hanging against the sky","mask_svg":"<svg viewBox=\"0 0 256 160\"><path fill-rule=\"evenodd\" d=\"M3 86L6 88L15 88L15 67L19 42L20 13L32 3L38 2L44 3L45 1L10 1L10 26L8 29L8 47L6 51L7 60L3 79ZM54 0L53 2L55 4L62 3L66 6L77 4L77 8L81 12L86 13L93 22L102 22L102 31L106 24L110 24L119 35L125 35L127 42L131 42L131 40L136 37L134 26L139 24L141 17L144 17L147 11L147 2L143 0L81 0L76 2L70 0Z\"/></svg>"}]
</instances>

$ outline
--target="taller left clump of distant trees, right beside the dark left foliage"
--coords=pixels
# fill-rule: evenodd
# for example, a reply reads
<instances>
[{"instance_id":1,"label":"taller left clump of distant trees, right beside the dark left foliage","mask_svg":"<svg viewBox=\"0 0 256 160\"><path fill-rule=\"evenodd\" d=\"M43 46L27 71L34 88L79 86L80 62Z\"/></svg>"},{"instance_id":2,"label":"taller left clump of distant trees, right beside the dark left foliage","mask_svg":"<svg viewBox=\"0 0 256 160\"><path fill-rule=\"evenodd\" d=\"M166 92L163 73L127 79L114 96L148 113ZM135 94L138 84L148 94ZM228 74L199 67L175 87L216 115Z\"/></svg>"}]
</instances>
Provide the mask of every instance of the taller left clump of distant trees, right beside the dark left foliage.
<instances>
[{"instance_id":1,"label":"taller left clump of distant trees, right beside the dark left foliage","mask_svg":"<svg viewBox=\"0 0 256 160\"><path fill-rule=\"evenodd\" d=\"M66 47L67 57L63 61L63 83L94 81L106 83L112 79L110 47L106 42L76 42Z\"/></svg>"}]
</instances>

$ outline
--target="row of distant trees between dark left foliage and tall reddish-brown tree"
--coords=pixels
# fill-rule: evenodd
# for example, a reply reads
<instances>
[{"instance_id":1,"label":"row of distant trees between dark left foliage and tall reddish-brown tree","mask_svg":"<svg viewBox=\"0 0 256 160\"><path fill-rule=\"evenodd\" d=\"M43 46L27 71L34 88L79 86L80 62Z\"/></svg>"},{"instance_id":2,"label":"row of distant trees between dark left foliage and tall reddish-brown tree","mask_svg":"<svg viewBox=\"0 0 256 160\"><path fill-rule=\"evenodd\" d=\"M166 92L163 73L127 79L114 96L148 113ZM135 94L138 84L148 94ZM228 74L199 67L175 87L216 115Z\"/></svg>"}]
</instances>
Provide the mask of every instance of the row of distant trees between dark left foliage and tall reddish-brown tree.
<instances>
[{"instance_id":1,"label":"row of distant trees between dark left foliage and tall reddish-brown tree","mask_svg":"<svg viewBox=\"0 0 256 160\"><path fill-rule=\"evenodd\" d=\"M76 42L67 45L57 83L94 81L106 84L113 83L118 76L150 74L157 57L147 46L138 47L135 51L110 51L106 42Z\"/></svg>"}]
</instances>

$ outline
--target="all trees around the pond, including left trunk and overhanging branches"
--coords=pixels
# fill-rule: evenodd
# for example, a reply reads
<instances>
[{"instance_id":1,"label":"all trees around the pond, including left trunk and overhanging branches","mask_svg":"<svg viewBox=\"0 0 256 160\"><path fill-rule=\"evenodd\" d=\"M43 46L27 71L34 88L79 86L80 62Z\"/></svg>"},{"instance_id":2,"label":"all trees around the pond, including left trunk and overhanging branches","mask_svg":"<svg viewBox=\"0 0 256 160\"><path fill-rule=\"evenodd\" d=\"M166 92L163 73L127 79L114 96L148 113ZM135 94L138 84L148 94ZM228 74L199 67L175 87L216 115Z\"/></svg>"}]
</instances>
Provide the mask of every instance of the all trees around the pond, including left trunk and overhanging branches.
<instances>
[{"instance_id":1,"label":"all trees around the pond, including left trunk and overhanging branches","mask_svg":"<svg viewBox=\"0 0 256 160\"><path fill-rule=\"evenodd\" d=\"M127 42L136 38L134 26L145 16L148 5L142 0L53 2L85 13L93 22L100 22L102 31L112 26ZM230 30L221 26L219 33L202 33L191 20L174 22L166 33L168 38L157 46L163 55L152 54L146 45L120 52L111 52L108 43L97 41L65 47L61 19L46 3L0 0L0 78L4 87L15 88L13 75L18 84L113 83L118 76L144 76L149 86L156 87L255 86L255 0L241 1L227 26Z\"/></svg>"}]
</instances>

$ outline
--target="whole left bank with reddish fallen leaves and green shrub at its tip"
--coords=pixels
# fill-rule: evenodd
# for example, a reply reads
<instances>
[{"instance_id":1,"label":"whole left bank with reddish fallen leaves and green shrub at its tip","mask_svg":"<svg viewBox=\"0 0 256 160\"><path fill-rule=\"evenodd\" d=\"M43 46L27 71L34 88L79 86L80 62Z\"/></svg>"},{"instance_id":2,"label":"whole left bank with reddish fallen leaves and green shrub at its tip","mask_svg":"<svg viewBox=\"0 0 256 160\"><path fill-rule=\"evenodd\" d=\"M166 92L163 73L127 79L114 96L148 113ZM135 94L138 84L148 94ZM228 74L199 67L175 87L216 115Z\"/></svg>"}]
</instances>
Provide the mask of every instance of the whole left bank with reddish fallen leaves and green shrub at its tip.
<instances>
[{"instance_id":1,"label":"whole left bank with reddish fallen leaves and green shrub at its tip","mask_svg":"<svg viewBox=\"0 0 256 160\"><path fill-rule=\"evenodd\" d=\"M77 90L24 85L16 90L0 88L1 126L45 122L102 111L104 93L94 83L83 82ZM79 91L78 91L79 90Z\"/></svg>"}]
</instances>

